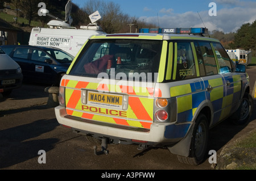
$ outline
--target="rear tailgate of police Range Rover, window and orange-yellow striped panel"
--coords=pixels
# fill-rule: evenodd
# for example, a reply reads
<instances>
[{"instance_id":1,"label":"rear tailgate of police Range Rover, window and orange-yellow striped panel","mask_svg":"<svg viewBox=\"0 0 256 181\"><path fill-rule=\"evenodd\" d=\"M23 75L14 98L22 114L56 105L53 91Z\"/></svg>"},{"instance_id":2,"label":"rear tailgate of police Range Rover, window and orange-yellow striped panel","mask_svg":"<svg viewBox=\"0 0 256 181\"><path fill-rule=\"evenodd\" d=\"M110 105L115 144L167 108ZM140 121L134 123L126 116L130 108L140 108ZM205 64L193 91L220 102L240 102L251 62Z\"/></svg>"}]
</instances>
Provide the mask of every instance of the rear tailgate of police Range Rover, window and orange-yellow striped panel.
<instances>
[{"instance_id":1,"label":"rear tailgate of police Range Rover, window and orange-yellow striped panel","mask_svg":"<svg viewBox=\"0 0 256 181\"><path fill-rule=\"evenodd\" d=\"M91 40L85 48L61 82L68 115L148 131L162 41L118 37Z\"/></svg>"}]
</instances>

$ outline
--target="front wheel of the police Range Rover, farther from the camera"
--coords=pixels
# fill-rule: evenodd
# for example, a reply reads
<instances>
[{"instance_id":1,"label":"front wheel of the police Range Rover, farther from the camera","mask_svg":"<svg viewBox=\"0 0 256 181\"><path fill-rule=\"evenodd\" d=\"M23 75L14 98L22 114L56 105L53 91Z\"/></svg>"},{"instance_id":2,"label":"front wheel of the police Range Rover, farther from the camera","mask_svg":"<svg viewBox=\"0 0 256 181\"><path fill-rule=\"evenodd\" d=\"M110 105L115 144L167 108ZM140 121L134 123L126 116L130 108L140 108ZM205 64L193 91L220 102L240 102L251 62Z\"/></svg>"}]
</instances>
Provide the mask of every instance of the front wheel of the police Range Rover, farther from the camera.
<instances>
[{"instance_id":1,"label":"front wheel of the police Range Rover, farther from the camera","mask_svg":"<svg viewBox=\"0 0 256 181\"><path fill-rule=\"evenodd\" d=\"M236 125L245 124L253 113L253 98L250 94L245 93L241 104L236 112L230 117L232 123Z\"/></svg>"}]
</instances>

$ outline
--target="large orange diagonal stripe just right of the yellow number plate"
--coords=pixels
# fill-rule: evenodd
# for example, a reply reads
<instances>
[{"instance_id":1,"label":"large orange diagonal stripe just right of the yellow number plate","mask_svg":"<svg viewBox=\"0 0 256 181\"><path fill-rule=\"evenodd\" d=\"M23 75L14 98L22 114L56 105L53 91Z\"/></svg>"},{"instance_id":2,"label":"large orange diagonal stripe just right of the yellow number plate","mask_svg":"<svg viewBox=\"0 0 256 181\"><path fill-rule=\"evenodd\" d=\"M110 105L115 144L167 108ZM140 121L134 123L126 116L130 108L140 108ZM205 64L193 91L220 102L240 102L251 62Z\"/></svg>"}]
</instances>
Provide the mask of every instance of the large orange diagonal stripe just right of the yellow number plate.
<instances>
[{"instance_id":1,"label":"large orange diagonal stripe just right of the yellow number plate","mask_svg":"<svg viewBox=\"0 0 256 181\"><path fill-rule=\"evenodd\" d=\"M129 97L129 105L138 119L152 120L139 98Z\"/></svg>"}]
</instances>

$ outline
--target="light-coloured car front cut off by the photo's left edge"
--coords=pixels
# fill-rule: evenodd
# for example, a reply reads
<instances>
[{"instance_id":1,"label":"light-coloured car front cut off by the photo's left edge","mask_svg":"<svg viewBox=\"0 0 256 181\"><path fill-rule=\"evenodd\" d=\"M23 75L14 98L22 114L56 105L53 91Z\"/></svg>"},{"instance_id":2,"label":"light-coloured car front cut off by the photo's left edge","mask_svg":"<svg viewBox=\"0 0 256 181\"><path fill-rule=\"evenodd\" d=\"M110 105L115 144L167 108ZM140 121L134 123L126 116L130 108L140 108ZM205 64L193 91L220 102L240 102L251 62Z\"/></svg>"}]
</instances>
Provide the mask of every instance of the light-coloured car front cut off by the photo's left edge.
<instances>
[{"instance_id":1,"label":"light-coloured car front cut off by the photo's left edge","mask_svg":"<svg viewBox=\"0 0 256 181\"><path fill-rule=\"evenodd\" d=\"M22 69L0 48L0 93L8 95L22 85Z\"/></svg>"}]
</instances>

